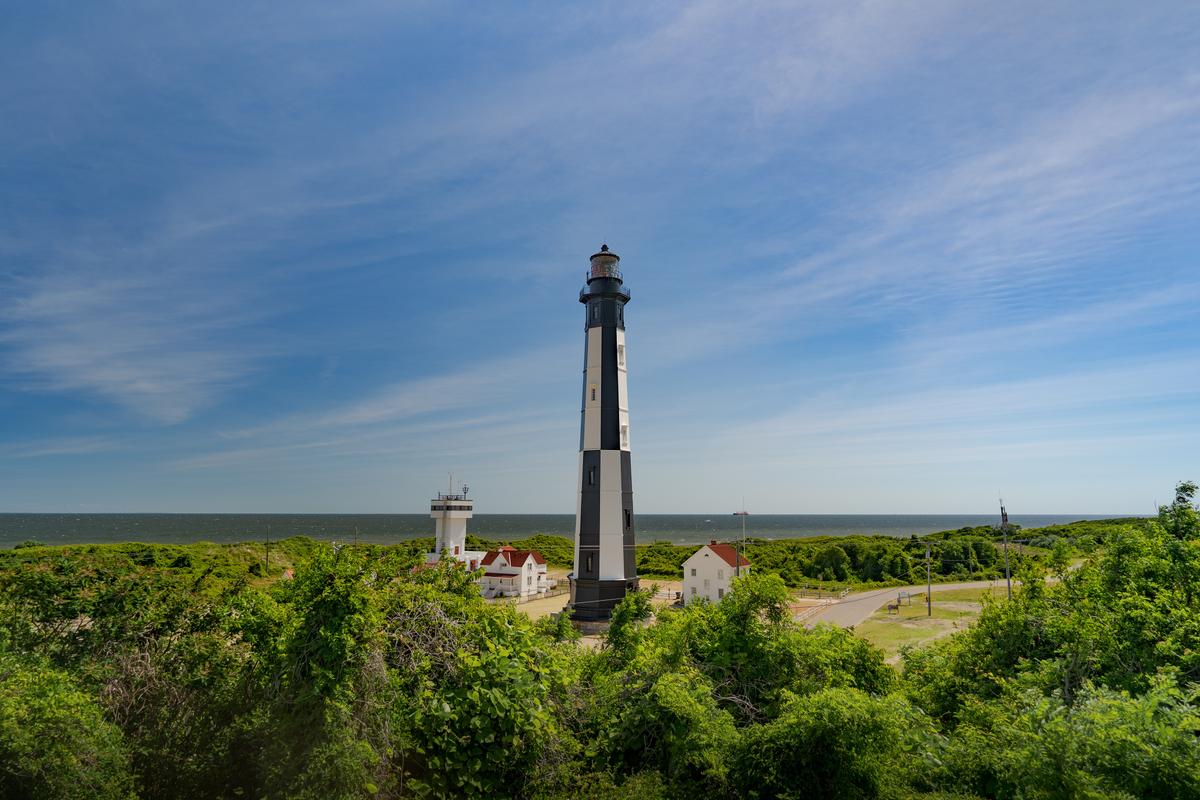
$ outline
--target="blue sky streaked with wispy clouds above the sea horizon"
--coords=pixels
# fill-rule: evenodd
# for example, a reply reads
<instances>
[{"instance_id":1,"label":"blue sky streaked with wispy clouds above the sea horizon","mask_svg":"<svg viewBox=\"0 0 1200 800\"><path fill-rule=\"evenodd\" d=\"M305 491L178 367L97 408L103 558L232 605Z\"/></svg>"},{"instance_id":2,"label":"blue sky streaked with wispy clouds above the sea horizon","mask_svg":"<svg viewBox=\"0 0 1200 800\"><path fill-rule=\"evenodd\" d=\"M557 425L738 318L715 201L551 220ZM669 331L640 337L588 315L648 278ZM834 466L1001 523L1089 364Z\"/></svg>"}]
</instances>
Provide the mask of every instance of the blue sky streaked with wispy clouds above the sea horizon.
<instances>
[{"instance_id":1,"label":"blue sky streaked with wispy clouds above the sea horizon","mask_svg":"<svg viewBox=\"0 0 1200 800\"><path fill-rule=\"evenodd\" d=\"M0 511L574 509L623 257L646 512L1200 477L1200 6L25 4Z\"/></svg>"}]
</instances>

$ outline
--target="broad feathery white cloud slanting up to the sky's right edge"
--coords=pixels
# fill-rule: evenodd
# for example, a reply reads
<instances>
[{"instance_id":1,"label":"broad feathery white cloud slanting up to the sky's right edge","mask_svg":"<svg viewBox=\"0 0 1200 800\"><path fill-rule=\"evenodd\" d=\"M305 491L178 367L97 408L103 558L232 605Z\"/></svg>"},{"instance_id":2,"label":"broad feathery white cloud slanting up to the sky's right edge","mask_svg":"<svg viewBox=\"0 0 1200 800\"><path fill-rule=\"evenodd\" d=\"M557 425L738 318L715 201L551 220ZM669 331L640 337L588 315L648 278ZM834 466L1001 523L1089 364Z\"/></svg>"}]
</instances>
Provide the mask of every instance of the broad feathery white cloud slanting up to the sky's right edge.
<instances>
[{"instance_id":1,"label":"broad feathery white cloud slanting up to the sky's right edge","mask_svg":"<svg viewBox=\"0 0 1200 800\"><path fill-rule=\"evenodd\" d=\"M1196 86L1196 76L1183 76L1102 88L1024 120L1008 140L983 134L979 152L910 178L858 212L854 235L790 269L788 296L824 302L865 291L889 307L937 299L973 311L1044 293L1064 276L1078 281L1081 259L1114 251L1194 197Z\"/></svg>"}]
</instances>

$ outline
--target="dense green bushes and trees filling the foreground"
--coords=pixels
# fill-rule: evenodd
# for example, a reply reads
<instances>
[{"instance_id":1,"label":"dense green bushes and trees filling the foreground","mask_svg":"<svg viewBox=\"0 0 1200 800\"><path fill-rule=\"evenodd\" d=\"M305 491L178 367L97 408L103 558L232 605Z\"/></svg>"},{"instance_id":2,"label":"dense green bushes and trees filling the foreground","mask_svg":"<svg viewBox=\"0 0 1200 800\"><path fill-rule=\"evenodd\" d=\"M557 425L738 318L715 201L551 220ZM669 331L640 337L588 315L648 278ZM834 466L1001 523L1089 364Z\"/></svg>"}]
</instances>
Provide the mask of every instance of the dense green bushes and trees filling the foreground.
<instances>
[{"instance_id":1,"label":"dense green bushes and trees filling the foreground","mask_svg":"<svg viewBox=\"0 0 1200 800\"><path fill-rule=\"evenodd\" d=\"M1195 491L899 673L762 569L590 649L418 546L10 551L0 796L1200 798Z\"/></svg>"}]
</instances>

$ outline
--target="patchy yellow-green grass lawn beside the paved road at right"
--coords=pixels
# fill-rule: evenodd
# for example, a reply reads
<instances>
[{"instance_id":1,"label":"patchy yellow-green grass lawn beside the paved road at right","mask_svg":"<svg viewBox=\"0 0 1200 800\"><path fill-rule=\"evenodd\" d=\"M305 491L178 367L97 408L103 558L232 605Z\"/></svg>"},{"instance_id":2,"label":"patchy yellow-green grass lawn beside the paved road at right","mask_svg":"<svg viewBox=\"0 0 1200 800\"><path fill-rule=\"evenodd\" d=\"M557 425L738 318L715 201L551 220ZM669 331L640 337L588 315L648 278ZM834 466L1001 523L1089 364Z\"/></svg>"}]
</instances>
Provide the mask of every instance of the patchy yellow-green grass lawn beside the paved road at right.
<instances>
[{"instance_id":1,"label":"patchy yellow-green grass lawn beside the paved road at right","mask_svg":"<svg viewBox=\"0 0 1200 800\"><path fill-rule=\"evenodd\" d=\"M922 646L970 626L983 610L984 595L1003 601L1004 587L1000 584L990 589L947 591L935 589L932 616L925 615L925 593L913 595L912 604L901 606L899 614L889 614L884 603L856 626L854 633L883 650L889 663L895 663L900 658L900 648Z\"/></svg>"}]
</instances>

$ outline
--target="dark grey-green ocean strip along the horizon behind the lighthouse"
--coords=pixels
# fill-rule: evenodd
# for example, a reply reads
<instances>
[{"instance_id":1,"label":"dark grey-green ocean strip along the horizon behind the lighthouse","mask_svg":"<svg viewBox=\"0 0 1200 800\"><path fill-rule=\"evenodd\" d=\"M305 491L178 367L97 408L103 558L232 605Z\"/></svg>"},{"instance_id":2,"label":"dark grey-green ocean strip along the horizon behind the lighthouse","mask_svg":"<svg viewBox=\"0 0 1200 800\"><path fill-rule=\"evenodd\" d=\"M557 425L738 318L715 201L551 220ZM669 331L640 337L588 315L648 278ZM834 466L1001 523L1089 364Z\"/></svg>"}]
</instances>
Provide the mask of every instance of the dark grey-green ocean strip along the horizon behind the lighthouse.
<instances>
[{"instance_id":1,"label":"dark grey-green ocean strip along the horizon behind the lighthouse","mask_svg":"<svg viewBox=\"0 0 1200 800\"><path fill-rule=\"evenodd\" d=\"M1013 515L1022 528L1040 528L1076 519L1104 519L1096 515ZM880 534L911 536L966 525L992 525L998 515L752 515L746 535L760 539L848 536ZM197 541L262 541L310 536L346 541L355 529L360 541L389 543L433 536L427 513L288 515L288 513L0 513L0 548L26 540L43 545L103 542L184 543ZM637 515L638 542L698 543L727 539L742 530L742 518L731 513ZM575 517L566 513L480 513L467 531L487 539L522 539L533 534L575 535Z\"/></svg>"}]
</instances>

